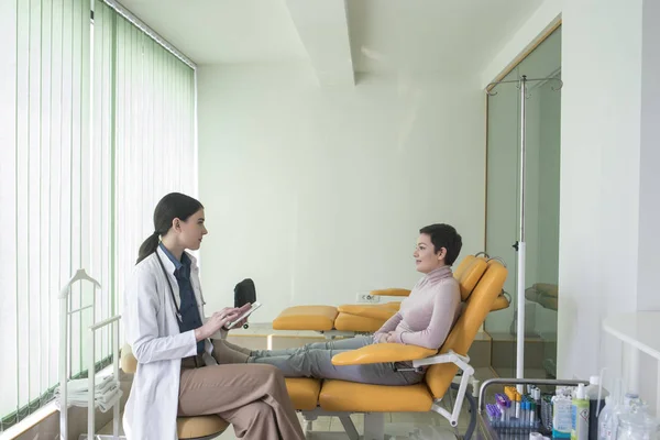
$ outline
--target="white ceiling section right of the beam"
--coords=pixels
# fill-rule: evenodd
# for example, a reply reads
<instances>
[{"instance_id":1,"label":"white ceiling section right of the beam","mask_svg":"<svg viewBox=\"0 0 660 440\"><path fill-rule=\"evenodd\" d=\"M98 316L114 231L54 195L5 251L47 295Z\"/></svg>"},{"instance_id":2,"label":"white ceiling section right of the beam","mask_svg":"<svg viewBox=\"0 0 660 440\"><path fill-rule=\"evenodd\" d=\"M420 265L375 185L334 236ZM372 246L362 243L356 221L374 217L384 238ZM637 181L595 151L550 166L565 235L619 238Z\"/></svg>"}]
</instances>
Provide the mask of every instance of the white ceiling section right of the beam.
<instances>
[{"instance_id":1,"label":"white ceiling section right of the beam","mask_svg":"<svg viewBox=\"0 0 660 440\"><path fill-rule=\"evenodd\" d=\"M481 73L541 2L349 0L355 70Z\"/></svg>"}]
</instances>

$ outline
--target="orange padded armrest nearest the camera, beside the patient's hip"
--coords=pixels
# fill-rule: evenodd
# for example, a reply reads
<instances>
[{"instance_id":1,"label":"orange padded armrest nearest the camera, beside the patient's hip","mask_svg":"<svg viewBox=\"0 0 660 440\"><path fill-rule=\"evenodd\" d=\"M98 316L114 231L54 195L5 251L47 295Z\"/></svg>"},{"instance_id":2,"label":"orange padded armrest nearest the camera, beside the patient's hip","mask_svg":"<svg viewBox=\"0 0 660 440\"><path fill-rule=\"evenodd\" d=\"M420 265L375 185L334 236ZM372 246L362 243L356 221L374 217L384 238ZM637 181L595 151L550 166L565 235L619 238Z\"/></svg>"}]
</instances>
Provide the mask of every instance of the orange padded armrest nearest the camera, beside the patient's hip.
<instances>
[{"instance_id":1,"label":"orange padded armrest nearest the camera, beside the patient's hip","mask_svg":"<svg viewBox=\"0 0 660 440\"><path fill-rule=\"evenodd\" d=\"M362 349L344 351L332 356L332 365L378 364L382 362L403 362L425 359L438 353L438 350L419 345L399 343L377 343Z\"/></svg>"}]
</instances>

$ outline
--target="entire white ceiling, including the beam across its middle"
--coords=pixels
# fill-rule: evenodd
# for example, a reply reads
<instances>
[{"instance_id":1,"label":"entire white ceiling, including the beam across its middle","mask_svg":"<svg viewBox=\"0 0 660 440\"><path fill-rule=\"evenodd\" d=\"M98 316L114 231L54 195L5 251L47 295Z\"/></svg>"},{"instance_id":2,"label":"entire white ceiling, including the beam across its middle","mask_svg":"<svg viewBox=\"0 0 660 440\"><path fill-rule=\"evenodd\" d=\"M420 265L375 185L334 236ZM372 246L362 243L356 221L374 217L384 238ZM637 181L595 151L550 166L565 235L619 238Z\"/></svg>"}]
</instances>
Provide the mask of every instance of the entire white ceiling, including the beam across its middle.
<instances>
[{"instance_id":1,"label":"entire white ceiling, including the beam across its middle","mask_svg":"<svg viewBox=\"0 0 660 440\"><path fill-rule=\"evenodd\" d=\"M123 0L197 64L308 61L359 73L479 74L542 0Z\"/></svg>"}]
</instances>

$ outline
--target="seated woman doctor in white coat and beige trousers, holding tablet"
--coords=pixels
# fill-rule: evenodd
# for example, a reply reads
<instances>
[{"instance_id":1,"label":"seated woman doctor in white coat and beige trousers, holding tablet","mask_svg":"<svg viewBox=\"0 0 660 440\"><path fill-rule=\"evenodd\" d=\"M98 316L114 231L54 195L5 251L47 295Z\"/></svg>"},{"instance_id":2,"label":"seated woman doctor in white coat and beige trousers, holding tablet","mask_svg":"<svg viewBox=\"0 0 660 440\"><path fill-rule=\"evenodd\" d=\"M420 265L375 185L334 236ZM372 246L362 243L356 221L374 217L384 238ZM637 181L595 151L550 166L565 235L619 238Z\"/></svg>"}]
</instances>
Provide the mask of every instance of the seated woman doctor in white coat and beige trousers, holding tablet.
<instances>
[{"instance_id":1,"label":"seated woman doctor in white coat and beige trousers, holding tablet","mask_svg":"<svg viewBox=\"0 0 660 440\"><path fill-rule=\"evenodd\" d=\"M195 258L207 233L204 207L173 193L154 212L154 233L124 294L124 322L138 371L124 411L129 440L174 440L176 418L217 414L239 438L304 439L282 373L271 365L222 359L209 337L241 310L224 308L202 323L204 297ZM240 363L242 362L242 363Z\"/></svg>"}]
</instances>

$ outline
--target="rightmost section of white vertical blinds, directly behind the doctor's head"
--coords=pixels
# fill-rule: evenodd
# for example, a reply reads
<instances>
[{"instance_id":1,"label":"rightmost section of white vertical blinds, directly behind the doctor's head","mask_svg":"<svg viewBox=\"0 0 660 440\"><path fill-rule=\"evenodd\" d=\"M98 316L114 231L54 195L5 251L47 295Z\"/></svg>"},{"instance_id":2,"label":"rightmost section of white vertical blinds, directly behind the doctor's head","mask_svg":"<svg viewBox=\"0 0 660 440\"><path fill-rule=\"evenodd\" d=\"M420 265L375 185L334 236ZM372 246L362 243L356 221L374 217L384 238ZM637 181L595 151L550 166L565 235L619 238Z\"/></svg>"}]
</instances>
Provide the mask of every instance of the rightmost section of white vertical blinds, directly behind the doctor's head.
<instances>
[{"instance_id":1,"label":"rightmost section of white vertical blinds, directly behind the doctor's head","mask_svg":"<svg viewBox=\"0 0 660 440\"><path fill-rule=\"evenodd\" d=\"M154 232L158 200L196 190L195 70L124 18L116 24L114 233L123 292L140 244Z\"/></svg>"}]
</instances>

